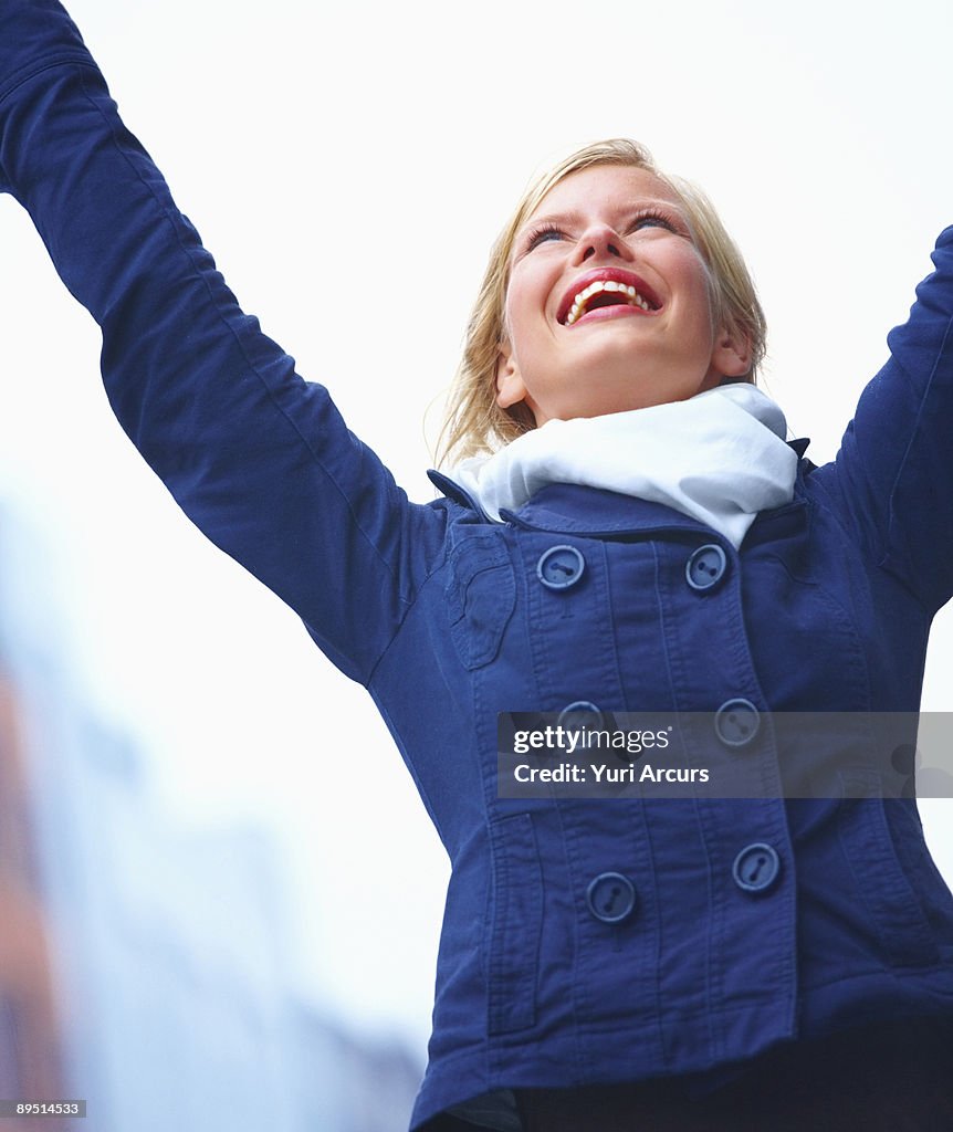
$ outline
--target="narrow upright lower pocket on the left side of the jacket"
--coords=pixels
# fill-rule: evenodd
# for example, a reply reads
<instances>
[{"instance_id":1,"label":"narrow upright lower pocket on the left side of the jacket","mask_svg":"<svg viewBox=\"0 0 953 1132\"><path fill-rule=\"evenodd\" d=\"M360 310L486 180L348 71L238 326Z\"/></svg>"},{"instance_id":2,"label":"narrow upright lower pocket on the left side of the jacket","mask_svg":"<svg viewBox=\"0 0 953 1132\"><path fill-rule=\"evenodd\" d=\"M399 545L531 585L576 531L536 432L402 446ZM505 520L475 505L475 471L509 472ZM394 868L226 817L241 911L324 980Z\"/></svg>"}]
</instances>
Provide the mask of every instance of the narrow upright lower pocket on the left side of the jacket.
<instances>
[{"instance_id":1,"label":"narrow upright lower pocket on the left side of the jacket","mask_svg":"<svg viewBox=\"0 0 953 1132\"><path fill-rule=\"evenodd\" d=\"M490 825L493 863L488 917L490 1034L522 1030L535 1022L542 935L542 869L530 814Z\"/></svg>"}]
</instances>

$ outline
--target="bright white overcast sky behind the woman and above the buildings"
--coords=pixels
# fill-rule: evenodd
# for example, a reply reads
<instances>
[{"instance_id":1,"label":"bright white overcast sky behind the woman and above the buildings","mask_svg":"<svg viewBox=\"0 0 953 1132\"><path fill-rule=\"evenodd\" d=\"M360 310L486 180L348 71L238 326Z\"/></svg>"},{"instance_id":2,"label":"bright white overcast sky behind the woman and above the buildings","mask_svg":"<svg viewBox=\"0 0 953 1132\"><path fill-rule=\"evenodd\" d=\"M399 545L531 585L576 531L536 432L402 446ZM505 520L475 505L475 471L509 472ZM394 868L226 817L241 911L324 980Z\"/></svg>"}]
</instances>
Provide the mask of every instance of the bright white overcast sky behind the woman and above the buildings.
<instances>
[{"instance_id":1,"label":"bright white overcast sky behind the woman and above the buildings","mask_svg":"<svg viewBox=\"0 0 953 1132\"><path fill-rule=\"evenodd\" d=\"M490 243L570 149L635 137L712 197L767 312L764 385L815 463L950 221L945 0L70 10L244 309L420 500ZM61 648L178 820L274 832L302 984L422 1041L447 865L410 778L362 689L132 451L97 353L0 199L0 504L49 548ZM951 677L944 611L925 707L953 706ZM922 813L953 877L953 803Z\"/></svg>"}]
</instances>

